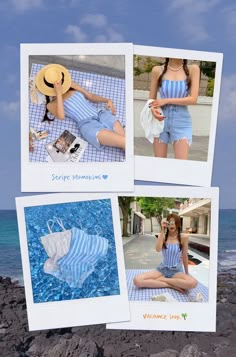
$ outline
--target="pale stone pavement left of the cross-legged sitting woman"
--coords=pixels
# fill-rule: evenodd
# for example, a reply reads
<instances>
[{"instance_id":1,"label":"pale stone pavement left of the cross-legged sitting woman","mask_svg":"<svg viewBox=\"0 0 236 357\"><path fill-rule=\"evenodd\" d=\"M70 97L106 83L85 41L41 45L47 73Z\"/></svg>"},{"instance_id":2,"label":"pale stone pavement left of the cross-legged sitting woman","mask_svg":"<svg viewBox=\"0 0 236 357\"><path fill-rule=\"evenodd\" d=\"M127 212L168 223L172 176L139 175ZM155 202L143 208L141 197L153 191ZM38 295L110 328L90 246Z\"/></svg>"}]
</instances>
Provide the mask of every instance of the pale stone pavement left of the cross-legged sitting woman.
<instances>
[{"instance_id":1,"label":"pale stone pavement left of the cross-legged sitting woman","mask_svg":"<svg viewBox=\"0 0 236 357\"><path fill-rule=\"evenodd\" d=\"M162 254L155 249L156 238L152 235L131 236L123 246L126 269L155 269Z\"/></svg>"}]
</instances>

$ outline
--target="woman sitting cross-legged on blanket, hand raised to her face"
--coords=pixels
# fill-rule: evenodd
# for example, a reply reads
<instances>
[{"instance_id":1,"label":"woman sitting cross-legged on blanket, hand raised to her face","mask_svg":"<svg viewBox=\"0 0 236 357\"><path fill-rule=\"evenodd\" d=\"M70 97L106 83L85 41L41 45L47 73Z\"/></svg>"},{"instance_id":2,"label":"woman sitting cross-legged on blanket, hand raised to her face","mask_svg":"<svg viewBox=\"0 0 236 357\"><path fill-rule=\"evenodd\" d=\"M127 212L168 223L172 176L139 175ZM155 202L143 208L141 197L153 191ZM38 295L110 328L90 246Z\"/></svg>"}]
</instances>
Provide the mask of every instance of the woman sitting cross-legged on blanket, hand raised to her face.
<instances>
[{"instance_id":1,"label":"woman sitting cross-legged on blanket, hand raised to her face","mask_svg":"<svg viewBox=\"0 0 236 357\"><path fill-rule=\"evenodd\" d=\"M162 251L162 262L156 270L136 275L135 286L138 288L172 288L180 292L196 287L197 280L188 275L188 236L180 233L180 218L176 214L170 214L167 221L162 222L156 250Z\"/></svg>"}]
</instances>

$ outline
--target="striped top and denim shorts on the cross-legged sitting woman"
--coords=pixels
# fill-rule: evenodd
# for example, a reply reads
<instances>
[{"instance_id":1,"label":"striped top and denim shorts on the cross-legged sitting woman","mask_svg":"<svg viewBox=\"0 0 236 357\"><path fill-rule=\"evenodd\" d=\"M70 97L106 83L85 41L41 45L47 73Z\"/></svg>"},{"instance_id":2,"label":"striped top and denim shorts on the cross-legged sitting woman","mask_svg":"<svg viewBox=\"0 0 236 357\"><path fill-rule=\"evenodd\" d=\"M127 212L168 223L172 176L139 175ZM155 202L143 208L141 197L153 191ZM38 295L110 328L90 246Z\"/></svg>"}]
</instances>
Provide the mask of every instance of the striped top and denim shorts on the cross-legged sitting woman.
<instances>
[{"instance_id":1,"label":"striped top and denim shorts on the cross-legged sitting woman","mask_svg":"<svg viewBox=\"0 0 236 357\"><path fill-rule=\"evenodd\" d=\"M179 243L166 243L166 247L162 249L163 261L156 269L166 278L172 278L176 273L184 271L180 260L182 250L179 249Z\"/></svg>"}]
</instances>

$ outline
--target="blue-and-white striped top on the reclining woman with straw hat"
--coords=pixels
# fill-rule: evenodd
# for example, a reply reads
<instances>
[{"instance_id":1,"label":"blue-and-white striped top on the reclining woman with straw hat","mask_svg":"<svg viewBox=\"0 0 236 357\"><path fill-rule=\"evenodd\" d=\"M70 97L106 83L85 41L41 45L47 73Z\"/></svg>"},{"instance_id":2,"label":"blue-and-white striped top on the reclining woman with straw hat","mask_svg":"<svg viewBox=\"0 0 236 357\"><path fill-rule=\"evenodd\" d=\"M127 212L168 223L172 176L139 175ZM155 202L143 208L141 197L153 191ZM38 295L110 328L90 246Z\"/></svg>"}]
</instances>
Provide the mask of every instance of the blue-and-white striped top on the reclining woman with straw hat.
<instances>
[{"instance_id":1,"label":"blue-and-white striped top on the reclining woman with straw hat","mask_svg":"<svg viewBox=\"0 0 236 357\"><path fill-rule=\"evenodd\" d=\"M66 116L74 119L78 124L94 116L97 117L98 114L97 109L78 91L64 101L64 111Z\"/></svg>"}]
</instances>

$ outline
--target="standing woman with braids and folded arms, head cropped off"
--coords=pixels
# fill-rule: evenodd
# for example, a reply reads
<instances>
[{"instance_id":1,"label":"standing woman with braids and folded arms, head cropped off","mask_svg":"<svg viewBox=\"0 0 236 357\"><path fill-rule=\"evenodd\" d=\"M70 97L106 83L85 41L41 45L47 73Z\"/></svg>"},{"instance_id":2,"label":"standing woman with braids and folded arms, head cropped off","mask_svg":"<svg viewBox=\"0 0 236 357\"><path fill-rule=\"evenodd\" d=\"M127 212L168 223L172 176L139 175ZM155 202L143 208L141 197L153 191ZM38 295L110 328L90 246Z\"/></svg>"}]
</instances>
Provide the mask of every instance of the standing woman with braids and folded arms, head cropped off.
<instances>
[{"instance_id":1,"label":"standing woman with braids and folded arms, head cropped off","mask_svg":"<svg viewBox=\"0 0 236 357\"><path fill-rule=\"evenodd\" d=\"M153 67L149 99L154 100L150 108L157 120L165 119L163 132L154 138L156 157L167 157L168 144L173 143L175 158L188 159L192 122L187 106L197 103L199 79L199 67L188 66L186 59L166 58L163 66ZM158 91L160 99L156 99Z\"/></svg>"}]
</instances>

